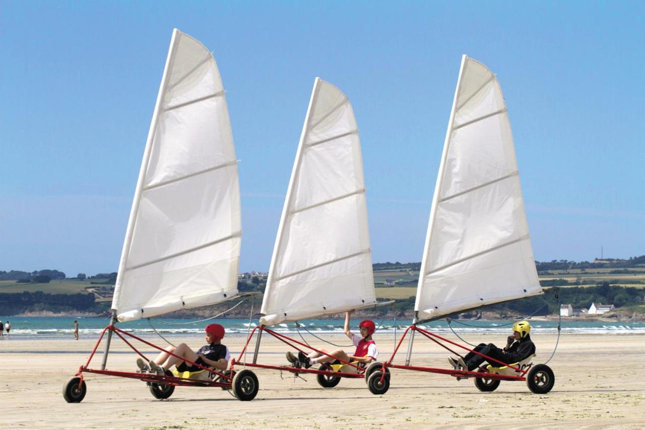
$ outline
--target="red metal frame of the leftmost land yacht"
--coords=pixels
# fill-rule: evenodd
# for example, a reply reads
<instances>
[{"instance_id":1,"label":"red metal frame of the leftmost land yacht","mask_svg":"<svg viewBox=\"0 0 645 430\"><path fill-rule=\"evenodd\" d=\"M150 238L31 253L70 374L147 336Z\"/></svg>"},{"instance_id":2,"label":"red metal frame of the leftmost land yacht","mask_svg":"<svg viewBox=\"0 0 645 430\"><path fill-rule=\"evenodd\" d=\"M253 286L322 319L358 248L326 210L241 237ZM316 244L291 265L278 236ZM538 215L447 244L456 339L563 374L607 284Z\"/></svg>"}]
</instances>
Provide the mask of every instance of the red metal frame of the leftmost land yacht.
<instances>
[{"instance_id":1,"label":"red metal frame of the leftmost land yacht","mask_svg":"<svg viewBox=\"0 0 645 430\"><path fill-rule=\"evenodd\" d=\"M145 343L148 346L154 347L155 349L158 349L159 351L164 351L174 357L181 358L184 362L190 363L192 365L195 365L197 367L200 367L201 369L204 369L206 371L209 371L210 373L217 374L220 377L220 380L225 380L227 382L208 382L204 380L199 380L199 379L194 379L194 378L179 378L177 376L168 376L168 375L160 375L160 374L151 374L151 373L139 373L139 372L123 372L123 371L108 371L108 370L99 370L99 369L90 369L89 365L90 362L92 361L92 358L94 358L94 354L96 353L96 350L98 349L99 345L101 344L101 341L103 340L103 336L106 331L112 331L112 333L116 334L123 340L123 342L126 343L132 350L139 354L144 360L148 360L146 356L144 356L141 351L136 349L132 343L128 342L126 338L124 338L123 334L126 336L130 336L130 338L133 338L135 340L138 340L141 343ZM199 365L197 363L194 363L190 360L187 360L186 358L183 358L181 356L175 355L174 353L170 353L163 349L162 347L159 347L155 345L154 343L150 343L146 340L143 340L134 334L130 334L126 331L123 331L121 329L118 329L117 327L114 327L114 325L108 325L103 329L101 332L101 336L99 336L99 340L97 340L96 345L94 345L94 349L92 349L92 353L90 354L89 358L87 359L87 362L84 365L81 365L79 367L79 371L74 375L74 376L79 376L79 387L83 383L83 372L86 373L97 373L97 374L106 374L109 376L120 376L121 378L131 378L131 379L138 379L143 382L152 382L155 384L162 384L162 385L175 385L175 386L183 386L183 387L226 387L226 388L231 388L232 387L232 378L230 376L226 376L223 373L220 373L219 371L215 371L213 369L210 369L208 367L204 367L203 365Z\"/></svg>"}]
</instances>

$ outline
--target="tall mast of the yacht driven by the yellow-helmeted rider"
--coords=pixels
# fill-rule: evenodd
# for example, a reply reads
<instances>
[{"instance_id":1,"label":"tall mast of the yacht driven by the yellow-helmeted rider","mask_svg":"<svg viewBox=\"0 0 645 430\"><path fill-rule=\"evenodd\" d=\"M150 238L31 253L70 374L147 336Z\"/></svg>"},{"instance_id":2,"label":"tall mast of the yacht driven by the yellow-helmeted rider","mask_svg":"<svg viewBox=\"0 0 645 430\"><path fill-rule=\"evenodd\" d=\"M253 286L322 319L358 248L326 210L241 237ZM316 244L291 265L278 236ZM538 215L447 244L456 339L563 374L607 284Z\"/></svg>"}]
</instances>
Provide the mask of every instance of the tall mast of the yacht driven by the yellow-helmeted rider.
<instances>
[{"instance_id":1,"label":"tall mast of the yacht driven by the yellow-helmeted rider","mask_svg":"<svg viewBox=\"0 0 645 430\"><path fill-rule=\"evenodd\" d=\"M459 97L459 90L461 90L461 78L464 76L464 69L466 68L466 55L461 56L461 66L459 67L459 77L457 78L457 88L455 88L455 97L452 100L452 110L450 110L450 119L448 119L448 130L446 130L446 139L444 140L444 148L441 154L441 164L440 166L445 165L446 158L448 158L448 146L450 145L450 136L452 136L452 128L455 123L455 112L457 112L457 97ZM426 256L428 255L428 248L430 247L430 240L432 239L432 225L434 224L435 216L437 216L437 205L439 204L439 194L441 194L441 184L443 182L444 169L439 170L439 177L437 178L437 183L435 183L435 194L432 196L432 207L430 209L430 224L428 227L428 233L426 234L426 244L423 247L423 260L421 261L421 269L419 272L419 283L422 282L423 278L426 276L426 261L428 260ZM421 289L417 287L417 303L420 302ZM417 325L419 323L419 311L414 312L414 319L412 320L412 325ZM410 365L410 357L412 356L412 342L414 341L414 332L412 331L412 336L410 336L410 344L408 345L408 354L406 355L406 365Z\"/></svg>"}]
</instances>

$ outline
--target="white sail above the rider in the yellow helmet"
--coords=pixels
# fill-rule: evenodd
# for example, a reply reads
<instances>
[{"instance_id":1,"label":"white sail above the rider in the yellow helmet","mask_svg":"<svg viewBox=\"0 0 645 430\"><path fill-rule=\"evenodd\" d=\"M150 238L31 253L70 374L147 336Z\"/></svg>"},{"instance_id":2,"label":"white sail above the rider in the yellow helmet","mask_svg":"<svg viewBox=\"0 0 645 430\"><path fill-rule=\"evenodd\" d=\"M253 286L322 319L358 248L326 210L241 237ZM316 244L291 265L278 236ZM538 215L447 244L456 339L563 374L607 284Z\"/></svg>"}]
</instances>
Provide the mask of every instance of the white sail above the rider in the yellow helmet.
<instances>
[{"instance_id":1,"label":"white sail above the rider in the yellow helmet","mask_svg":"<svg viewBox=\"0 0 645 430\"><path fill-rule=\"evenodd\" d=\"M504 96L486 66L463 56L421 262L417 320L541 292Z\"/></svg>"}]
</instances>

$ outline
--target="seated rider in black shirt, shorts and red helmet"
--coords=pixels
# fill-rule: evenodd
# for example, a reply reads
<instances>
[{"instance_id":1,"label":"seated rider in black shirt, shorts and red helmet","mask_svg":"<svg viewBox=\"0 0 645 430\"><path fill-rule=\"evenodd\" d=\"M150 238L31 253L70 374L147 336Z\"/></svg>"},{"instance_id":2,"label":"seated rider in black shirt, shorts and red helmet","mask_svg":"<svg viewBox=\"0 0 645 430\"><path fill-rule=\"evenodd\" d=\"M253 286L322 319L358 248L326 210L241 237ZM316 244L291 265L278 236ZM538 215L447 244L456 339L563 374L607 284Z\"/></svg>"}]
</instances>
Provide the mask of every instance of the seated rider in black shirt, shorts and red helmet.
<instances>
[{"instance_id":1,"label":"seated rider in black shirt, shorts and red helmet","mask_svg":"<svg viewBox=\"0 0 645 430\"><path fill-rule=\"evenodd\" d=\"M150 360L148 364L144 363L143 359L137 358L137 366L141 370L152 369L157 372L167 371L174 364L177 365L177 371L180 372L197 372L203 370L201 367L183 361L182 358L185 358L204 367L215 367L215 369L220 371L226 370L228 360L230 360L231 356L228 353L228 348L221 344L221 340L224 337L224 327L219 324L208 324L204 331L206 332L204 339L206 339L208 345L201 347L197 353L194 353L186 343L180 343L177 347L167 347L165 351L159 353L157 358ZM168 353L173 353L181 358L177 358Z\"/></svg>"}]
</instances>

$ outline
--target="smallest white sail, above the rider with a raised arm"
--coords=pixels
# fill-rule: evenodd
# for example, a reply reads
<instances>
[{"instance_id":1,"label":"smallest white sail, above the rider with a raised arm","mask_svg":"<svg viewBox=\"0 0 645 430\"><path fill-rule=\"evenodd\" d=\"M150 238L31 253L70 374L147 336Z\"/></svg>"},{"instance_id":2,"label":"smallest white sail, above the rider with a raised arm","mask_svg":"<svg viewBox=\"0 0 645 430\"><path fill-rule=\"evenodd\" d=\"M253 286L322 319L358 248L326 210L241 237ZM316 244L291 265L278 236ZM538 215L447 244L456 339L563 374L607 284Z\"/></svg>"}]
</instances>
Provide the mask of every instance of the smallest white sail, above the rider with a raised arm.
<instances>
[{"instance_id":1,"label":"smallest white sail, above the rider with a raised arm","mask_svg":"<svg viewBox=\"0 0 645 430\"><path fill-rule=\"evenodd\" d=\"M376 303L361 141L352 105L316 78L264 291L261 322Z\"/></svg>"}]
</instances>

